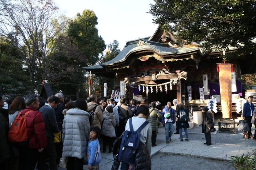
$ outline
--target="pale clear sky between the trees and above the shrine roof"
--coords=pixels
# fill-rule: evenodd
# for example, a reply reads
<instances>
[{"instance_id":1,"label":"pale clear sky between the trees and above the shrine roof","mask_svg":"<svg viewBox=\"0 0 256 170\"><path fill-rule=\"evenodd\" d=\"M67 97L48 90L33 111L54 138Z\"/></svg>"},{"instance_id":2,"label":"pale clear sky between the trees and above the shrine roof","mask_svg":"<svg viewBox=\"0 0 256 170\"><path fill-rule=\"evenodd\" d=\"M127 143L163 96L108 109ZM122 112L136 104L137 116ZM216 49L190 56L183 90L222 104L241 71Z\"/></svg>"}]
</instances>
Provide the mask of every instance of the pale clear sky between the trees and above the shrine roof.
<instances>
[{"instance_id":1,"label":"pale clear sky between the trees and above the shrine roof","mask_svg":"<svg viewBox=\"0 0 256 170\"><path fill-rule=\"evenodd\" d=\"M98 17L98 34L105 44L117 40L122 50L125 42L152 36L158 25L154 17L146 13L153 0L55 0L61 13L72 18L76 13L90 9Z\"/></svg>"}]
</instances>

